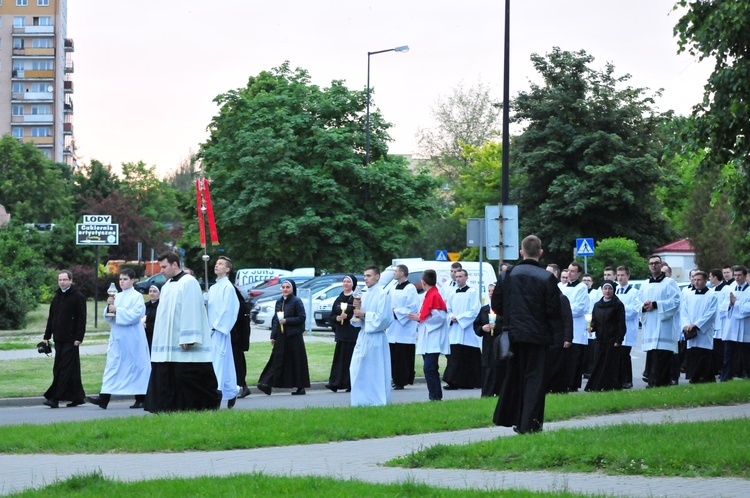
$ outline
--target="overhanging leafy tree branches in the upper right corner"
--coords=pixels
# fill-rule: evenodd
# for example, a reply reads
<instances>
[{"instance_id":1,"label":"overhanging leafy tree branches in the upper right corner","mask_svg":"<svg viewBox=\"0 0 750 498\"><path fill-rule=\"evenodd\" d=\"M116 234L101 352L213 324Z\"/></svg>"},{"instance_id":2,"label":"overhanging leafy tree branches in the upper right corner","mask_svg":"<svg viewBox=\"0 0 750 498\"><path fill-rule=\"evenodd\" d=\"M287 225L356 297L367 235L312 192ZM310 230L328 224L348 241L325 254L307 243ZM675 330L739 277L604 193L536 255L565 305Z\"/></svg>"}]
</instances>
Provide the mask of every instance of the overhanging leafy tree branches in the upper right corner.
<instances>
[{"instance_id":1,"label":"overhanging leafy tree branches in the upper right corner","mask_svg":"<svg viewBox=\"0 0 750 498\"><path fill-rule=\"evenodd\" d=\"M721 171L733 208L733 229L750 252L750 0L680 0L679 52L713 59L701 102L693 107L689 145L705 149L702 168ZM727 166L731 163L729 166Z\"/></svg>"}]
</instances>

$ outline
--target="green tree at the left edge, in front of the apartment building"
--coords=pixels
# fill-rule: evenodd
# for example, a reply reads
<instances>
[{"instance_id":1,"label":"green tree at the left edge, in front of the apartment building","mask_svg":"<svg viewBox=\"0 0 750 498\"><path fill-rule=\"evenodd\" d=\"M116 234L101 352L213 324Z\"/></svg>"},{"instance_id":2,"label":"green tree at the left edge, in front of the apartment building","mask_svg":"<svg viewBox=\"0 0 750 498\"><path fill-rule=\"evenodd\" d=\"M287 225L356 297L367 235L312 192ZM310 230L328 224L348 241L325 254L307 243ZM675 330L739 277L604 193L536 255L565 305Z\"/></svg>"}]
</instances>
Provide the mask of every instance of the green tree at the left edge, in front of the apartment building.
<instances>
[{"instance_id":1,"label":"green tree at the left edge, in front of the apartment building","mask_svg":"<svg viewBox=\"0 0 750 498\"><path fill-rule=\"evenodd\" d=\"M52 222L70 215L70 186L61 169L31 143L0 138L0 204L13 219Z\"/></svg>"}]
</instances>

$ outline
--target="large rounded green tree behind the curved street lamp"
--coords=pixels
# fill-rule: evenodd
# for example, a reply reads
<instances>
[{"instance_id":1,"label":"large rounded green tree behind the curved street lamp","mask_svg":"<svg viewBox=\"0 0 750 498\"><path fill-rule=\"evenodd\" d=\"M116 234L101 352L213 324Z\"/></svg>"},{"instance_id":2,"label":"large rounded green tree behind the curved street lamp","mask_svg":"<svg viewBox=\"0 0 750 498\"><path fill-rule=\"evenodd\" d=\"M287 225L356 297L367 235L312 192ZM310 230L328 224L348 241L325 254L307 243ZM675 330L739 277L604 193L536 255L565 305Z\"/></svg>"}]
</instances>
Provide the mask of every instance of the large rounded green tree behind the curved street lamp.
<instances>
[{"instance_id":1,"label":"large rounded green tree behind the curved street lamp","mask_svg":"<svg viewBox=\"0 0 750 498\"><path fill-rule=\"evenodd\" d=\"M230 256L351 270L390 261L431 214L434 181L387 155L390 125L377 111L363 164L364 92L320 88L285 63L215 102L200 157Z\"/></svg>"}]
</instances>

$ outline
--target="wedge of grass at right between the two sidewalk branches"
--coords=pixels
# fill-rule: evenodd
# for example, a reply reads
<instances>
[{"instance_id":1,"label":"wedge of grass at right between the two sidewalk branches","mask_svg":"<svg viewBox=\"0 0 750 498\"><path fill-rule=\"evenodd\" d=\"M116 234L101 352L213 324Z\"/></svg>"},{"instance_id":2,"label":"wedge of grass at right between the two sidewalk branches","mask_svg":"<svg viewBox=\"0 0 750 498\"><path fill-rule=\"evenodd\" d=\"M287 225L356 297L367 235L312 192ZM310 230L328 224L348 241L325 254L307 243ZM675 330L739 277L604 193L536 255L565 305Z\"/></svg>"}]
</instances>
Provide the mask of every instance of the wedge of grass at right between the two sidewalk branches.
<instances>
[{"instance_id":1,"label":"wedge of grass at right between the two sidewalk branches","mask_svg":"<svg viewBox=\"0 0 750 498\"><path fill-rule=\"evenodd\" d=\"M750 479L748 440L750 419L625 424L501 437L467 445L435 445L388 464Z\"/></svg>"}]
</instances>

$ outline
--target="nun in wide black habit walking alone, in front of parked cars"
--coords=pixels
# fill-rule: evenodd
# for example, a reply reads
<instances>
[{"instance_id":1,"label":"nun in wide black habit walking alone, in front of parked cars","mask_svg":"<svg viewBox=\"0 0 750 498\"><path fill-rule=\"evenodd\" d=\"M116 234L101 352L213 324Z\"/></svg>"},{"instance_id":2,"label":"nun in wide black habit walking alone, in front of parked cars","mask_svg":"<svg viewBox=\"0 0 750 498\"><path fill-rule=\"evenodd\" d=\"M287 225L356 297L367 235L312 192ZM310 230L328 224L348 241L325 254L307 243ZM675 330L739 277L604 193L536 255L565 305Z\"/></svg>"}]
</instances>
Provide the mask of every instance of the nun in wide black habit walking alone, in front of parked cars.
<instances>
[{"instance_id":1,"label":"nun in wide black habit walking alone, in front of parked cars","mask_svg":"<svg viewBox=\"0 0 750 498\"><path fill-rule=\"evenodd\" d=\"M271 321L271 357L258 379L258 389L271 394L274 387L296 388L293 395L305 394L310 387L305 332L305 306L297 297L294 280L281 281L281 297Z\"/></svg>"}]
</instances>

